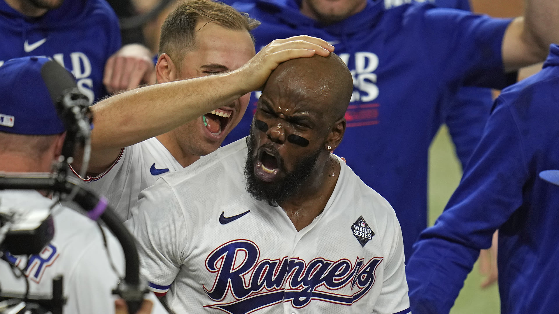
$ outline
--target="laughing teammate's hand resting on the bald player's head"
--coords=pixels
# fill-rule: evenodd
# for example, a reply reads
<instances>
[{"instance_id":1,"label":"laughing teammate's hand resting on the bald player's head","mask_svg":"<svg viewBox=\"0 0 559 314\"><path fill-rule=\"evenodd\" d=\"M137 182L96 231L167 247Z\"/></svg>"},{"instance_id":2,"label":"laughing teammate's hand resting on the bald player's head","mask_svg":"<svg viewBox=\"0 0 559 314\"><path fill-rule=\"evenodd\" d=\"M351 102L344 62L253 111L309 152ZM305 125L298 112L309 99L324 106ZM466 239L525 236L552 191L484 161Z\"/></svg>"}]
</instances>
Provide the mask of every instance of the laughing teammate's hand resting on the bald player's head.
<instances>
[{"instance_id":1,"label":"laughing teammate's hand resting on the bald player's head","mask_svg":"<svg viewBox=\"0 0 559 314\"><path fill-rule=\"evenodd\" d=\"M332 51L334 46L316 37L301 35L276 39L239 69L239 72L243 73L244 90L262 90L272 71L287 60L309 58L315 54L328 56Z\"/></svg>"}]
</instances>

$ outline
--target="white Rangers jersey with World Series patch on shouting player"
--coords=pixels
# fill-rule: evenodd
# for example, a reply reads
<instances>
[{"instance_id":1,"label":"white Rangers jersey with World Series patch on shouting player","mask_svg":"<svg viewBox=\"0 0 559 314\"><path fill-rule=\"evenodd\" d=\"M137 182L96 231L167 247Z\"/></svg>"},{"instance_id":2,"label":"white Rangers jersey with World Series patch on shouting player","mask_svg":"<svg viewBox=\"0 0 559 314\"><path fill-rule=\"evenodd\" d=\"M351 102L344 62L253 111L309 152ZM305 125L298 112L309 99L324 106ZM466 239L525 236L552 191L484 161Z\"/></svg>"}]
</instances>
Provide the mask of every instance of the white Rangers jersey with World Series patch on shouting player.
<instances>
[{"instance_id":1,"label":"white Rangers jersey with World Series patch on shouting player","mask_svg":"<svg viewBox=\"0 0 559 314\"><path fill-rule=\"evenodd\" d=\"M128 227L142 273L181 313L407 314L392 207L340 162L323 213L297 232L245 191L245 139L159 179Z\"/></svg>"}]
</instances>

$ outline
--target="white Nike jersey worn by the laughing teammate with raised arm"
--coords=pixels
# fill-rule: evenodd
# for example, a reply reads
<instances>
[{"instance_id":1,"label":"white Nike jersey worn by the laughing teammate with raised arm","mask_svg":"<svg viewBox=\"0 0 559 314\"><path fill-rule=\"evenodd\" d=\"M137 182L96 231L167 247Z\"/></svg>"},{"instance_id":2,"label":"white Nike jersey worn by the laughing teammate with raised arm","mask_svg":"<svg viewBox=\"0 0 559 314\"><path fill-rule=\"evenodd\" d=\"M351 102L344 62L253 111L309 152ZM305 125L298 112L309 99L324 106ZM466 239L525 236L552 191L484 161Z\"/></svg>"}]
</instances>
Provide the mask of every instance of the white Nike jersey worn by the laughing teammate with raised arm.
<instances>
[{"instance_id":1,"label":"white Nike jersey worn by the laughing teammate with raised arm","mask_svg":"<svg viewBox=\"0 0 559 314\"><path fill-rule=\"evenodd\" d=\"M151 137L122 149L119 158L105 172L82 180L93 191L104 195L120 220L126 221L143 189L162 175L182 168L167 148Z\"/></svg>"}]
</instances>

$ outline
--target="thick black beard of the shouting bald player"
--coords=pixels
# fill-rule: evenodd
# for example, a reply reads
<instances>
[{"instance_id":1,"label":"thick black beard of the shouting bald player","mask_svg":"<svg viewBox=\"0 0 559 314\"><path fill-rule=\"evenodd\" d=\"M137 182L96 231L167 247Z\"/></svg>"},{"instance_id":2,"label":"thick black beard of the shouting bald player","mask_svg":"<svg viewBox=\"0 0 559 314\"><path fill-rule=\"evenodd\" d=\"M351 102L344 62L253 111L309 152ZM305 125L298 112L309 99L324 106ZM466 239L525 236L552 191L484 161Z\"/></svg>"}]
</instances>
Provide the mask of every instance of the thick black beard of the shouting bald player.
<instances>
[{"instance_id":1,"label":"thick black beard of the shouting bald player","mask_svg":"<svg viewBox=\"0 0 559 314\"><path fill-rule=\"evenodd\" d=\"M278 182L263 182L254 175L254 136L250 130L250 136L247 138L247 162L245 163L244 175L247 180L247 192L250 193L258 201L267 201L270 206L278 206L279 203L293 196L305 184L310 177L312 169L316 164L316 160L320 155L320 150L316 153L302 159L295 165L295 169L287 172L283 168L283 163L278 167L286 174L285 177Z\"/></svg>"}]
</instances>

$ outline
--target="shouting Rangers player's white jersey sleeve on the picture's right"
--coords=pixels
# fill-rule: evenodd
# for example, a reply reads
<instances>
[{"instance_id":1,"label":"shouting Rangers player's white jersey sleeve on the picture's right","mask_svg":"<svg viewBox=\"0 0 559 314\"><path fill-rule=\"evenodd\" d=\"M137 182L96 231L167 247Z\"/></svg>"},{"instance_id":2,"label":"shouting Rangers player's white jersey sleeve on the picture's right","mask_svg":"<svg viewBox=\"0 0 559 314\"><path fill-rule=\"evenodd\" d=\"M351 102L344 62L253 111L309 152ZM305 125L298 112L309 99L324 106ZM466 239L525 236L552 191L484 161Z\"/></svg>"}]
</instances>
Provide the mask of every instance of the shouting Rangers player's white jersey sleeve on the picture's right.
<instances>
[{"instance_id":1,"label":"shouting Rangers player's white jersey sleeve on the picture's right","mask_svg":"<svg viewBox=\"0 0 559 314\"><path fill-rule=\"evenodd\" d=\"M387 223L386 229L391 236L385 237L382 246L386 256L381 293L378 296L373 314L409 314L410 300L404 266L404 242L396 215Z\"/></svg>"}]
</instances>

